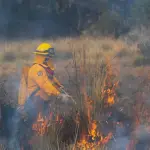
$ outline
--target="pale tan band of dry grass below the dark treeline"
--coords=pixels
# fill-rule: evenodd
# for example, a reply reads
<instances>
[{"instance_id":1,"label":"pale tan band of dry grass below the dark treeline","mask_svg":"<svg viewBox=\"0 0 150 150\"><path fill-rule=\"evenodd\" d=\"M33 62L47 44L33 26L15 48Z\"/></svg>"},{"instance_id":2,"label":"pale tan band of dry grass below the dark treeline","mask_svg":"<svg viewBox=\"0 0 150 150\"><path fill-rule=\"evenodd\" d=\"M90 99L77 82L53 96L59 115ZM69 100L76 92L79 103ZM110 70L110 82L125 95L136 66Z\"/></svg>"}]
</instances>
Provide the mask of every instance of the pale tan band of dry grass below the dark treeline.
<instances>
[{"instance_id":1,"label":"pale tan band of dry grass below the dark treeline","mask_svg":"<svg viewBox=\"0 0 150 150\"><path fill-rule=\"evenodd\" d=\"M56 48L58 59L62 57L69 57L70 52L75 51L87 51L87 59L90 58L93 61L97 53L100 57L114 57L116 53L122 50L129 55L137 51L136 46L128 46L121 40L115 40L113 38L94 38L94 37L77 37L77 38L60 38L57 40L30 40L30 41L4 41L1 42L0 62L1 66L9 65L15 68L21 67L24 63L31 63L33 54L32 52L41 42L49 42ZM100 59L101 60L101 59ZM5 69L3 69L5 71Z\"/></svg>"}]
</instances>

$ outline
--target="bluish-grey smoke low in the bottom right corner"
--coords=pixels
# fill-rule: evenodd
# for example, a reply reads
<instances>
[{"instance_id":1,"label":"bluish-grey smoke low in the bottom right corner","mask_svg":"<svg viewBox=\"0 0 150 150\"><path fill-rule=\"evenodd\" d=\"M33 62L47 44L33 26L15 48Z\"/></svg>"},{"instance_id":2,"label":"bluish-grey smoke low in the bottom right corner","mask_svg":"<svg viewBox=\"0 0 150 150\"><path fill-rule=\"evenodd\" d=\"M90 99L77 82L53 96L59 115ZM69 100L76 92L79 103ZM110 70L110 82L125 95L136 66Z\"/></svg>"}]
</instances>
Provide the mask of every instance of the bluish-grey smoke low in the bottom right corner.
<instances>
[{"instance_id":1,"label":"bluish-grey smoke low in the bottom right corner","mask_svg":"<svg viewBox=\"0 0 150 150\"><path fill-rule=\"evenodd\" d=\"M110 142L112 150L126 150L131 139L137 141L137 143L133 145L136 150L146 150L149 147L150 140L149 126L143 124L133 129L132 118L127 119L122 115L120 116L119 112L115 113L115 115L113 114L114 112L112 111L111 119L115 123L115 131L113 132L112 141ZM126 115L124 114L124 116Z\"/></svg>"}]
</instances>

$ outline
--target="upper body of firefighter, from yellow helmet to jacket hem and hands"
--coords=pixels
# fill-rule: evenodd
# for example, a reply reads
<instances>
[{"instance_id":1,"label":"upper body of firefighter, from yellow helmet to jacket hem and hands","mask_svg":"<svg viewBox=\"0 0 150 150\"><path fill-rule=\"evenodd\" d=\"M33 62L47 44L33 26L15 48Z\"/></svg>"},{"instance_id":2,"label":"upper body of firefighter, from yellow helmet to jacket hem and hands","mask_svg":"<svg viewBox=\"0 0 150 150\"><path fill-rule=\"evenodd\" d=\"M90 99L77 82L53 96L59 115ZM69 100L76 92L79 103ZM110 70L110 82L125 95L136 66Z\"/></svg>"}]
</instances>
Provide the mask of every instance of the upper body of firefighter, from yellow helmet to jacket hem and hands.
<instances>
[{"instance_id":1,"label":"upper body of firefighter, from yellow helmet to jacket hem and hands","mask_svg":"<svg viewBox=\"0 0 150 150\"><path fill-rule=\"evenodd\" d=\"M46 102L50 96L62 97L62 100L68 100L67 96L62 93L63 85L55 77L54 65L52 58L55 56L54 48L48 43L40 44L34 52L34 63L28 71L27 93L28 97L38 97ZM26 93L20 93L20 96ZM25 99L19 97L19 105L24 105Z\"/></svg>"}]
</instances>

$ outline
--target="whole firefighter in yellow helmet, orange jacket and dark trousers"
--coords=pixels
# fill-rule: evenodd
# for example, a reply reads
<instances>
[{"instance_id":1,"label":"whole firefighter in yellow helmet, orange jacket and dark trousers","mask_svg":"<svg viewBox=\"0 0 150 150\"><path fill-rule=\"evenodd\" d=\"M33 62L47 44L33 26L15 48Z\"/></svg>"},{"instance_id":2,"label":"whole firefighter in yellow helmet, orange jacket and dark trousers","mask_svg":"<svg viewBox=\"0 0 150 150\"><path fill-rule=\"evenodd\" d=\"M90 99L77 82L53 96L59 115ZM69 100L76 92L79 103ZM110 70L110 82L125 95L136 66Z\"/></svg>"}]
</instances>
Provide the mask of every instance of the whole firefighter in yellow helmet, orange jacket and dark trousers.
<instances>
[{"instance_id":1,"label":"whole firefighter in yellow helmet, orange jacket and dark trousers","mask_svg":"<svg viewBox=\"0 0 150 150\"><path fill-rule=\"evenodd\" d=\"M52 58L55 55L54 48L48 43L42 43L37 47L34 54L35 58L32 66L24 69L22 74L18 98L19 107L13 119L12 138L18 138L18 132L20 131L24 131L22 134L27 134L26 129L31 133L32 124L36 120L38 113L45 113L48 110L48 102L52 96L59 98L64 103L71 102L69 95L63 92L63 85L55 77L55 68L52 62ZM25 117L27 118L26 121L22 121ZM23 129L23 127L26 129ZM10 142L10 147L17 145L16 150L20 145L17 142L17 138L15 138L15 142L14 138ZM22 139L21 141L25 142L27 139ZM27 146L24 150L30 149L27 142L22 145Z\"/></svg>"}]
</instances>

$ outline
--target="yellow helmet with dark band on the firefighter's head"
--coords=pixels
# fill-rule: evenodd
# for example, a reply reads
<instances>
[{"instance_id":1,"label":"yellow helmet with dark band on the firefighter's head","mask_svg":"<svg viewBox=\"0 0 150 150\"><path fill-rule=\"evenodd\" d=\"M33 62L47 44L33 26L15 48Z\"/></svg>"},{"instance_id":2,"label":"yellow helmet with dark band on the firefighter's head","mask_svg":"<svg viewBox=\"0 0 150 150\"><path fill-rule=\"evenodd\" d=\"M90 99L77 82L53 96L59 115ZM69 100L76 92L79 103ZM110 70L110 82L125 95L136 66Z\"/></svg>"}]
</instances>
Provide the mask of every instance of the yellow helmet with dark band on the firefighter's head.
<instances>
[{"instance_id":1,"label":"yellow helmet with dark band on the firefighter's head","mask_svg":"<svg viewBox=\"0 0 150 150\"><path fill-rule=\"evenodd\" d=\"M51 44L42 43L42 44L40 44L40 45L37 47L37 49L36 49L36 51L34 52L34 54L52 57L52 56L55 55L55 50L54 50L54 48L51 46Z\"/></svg>"}]
</instances>

